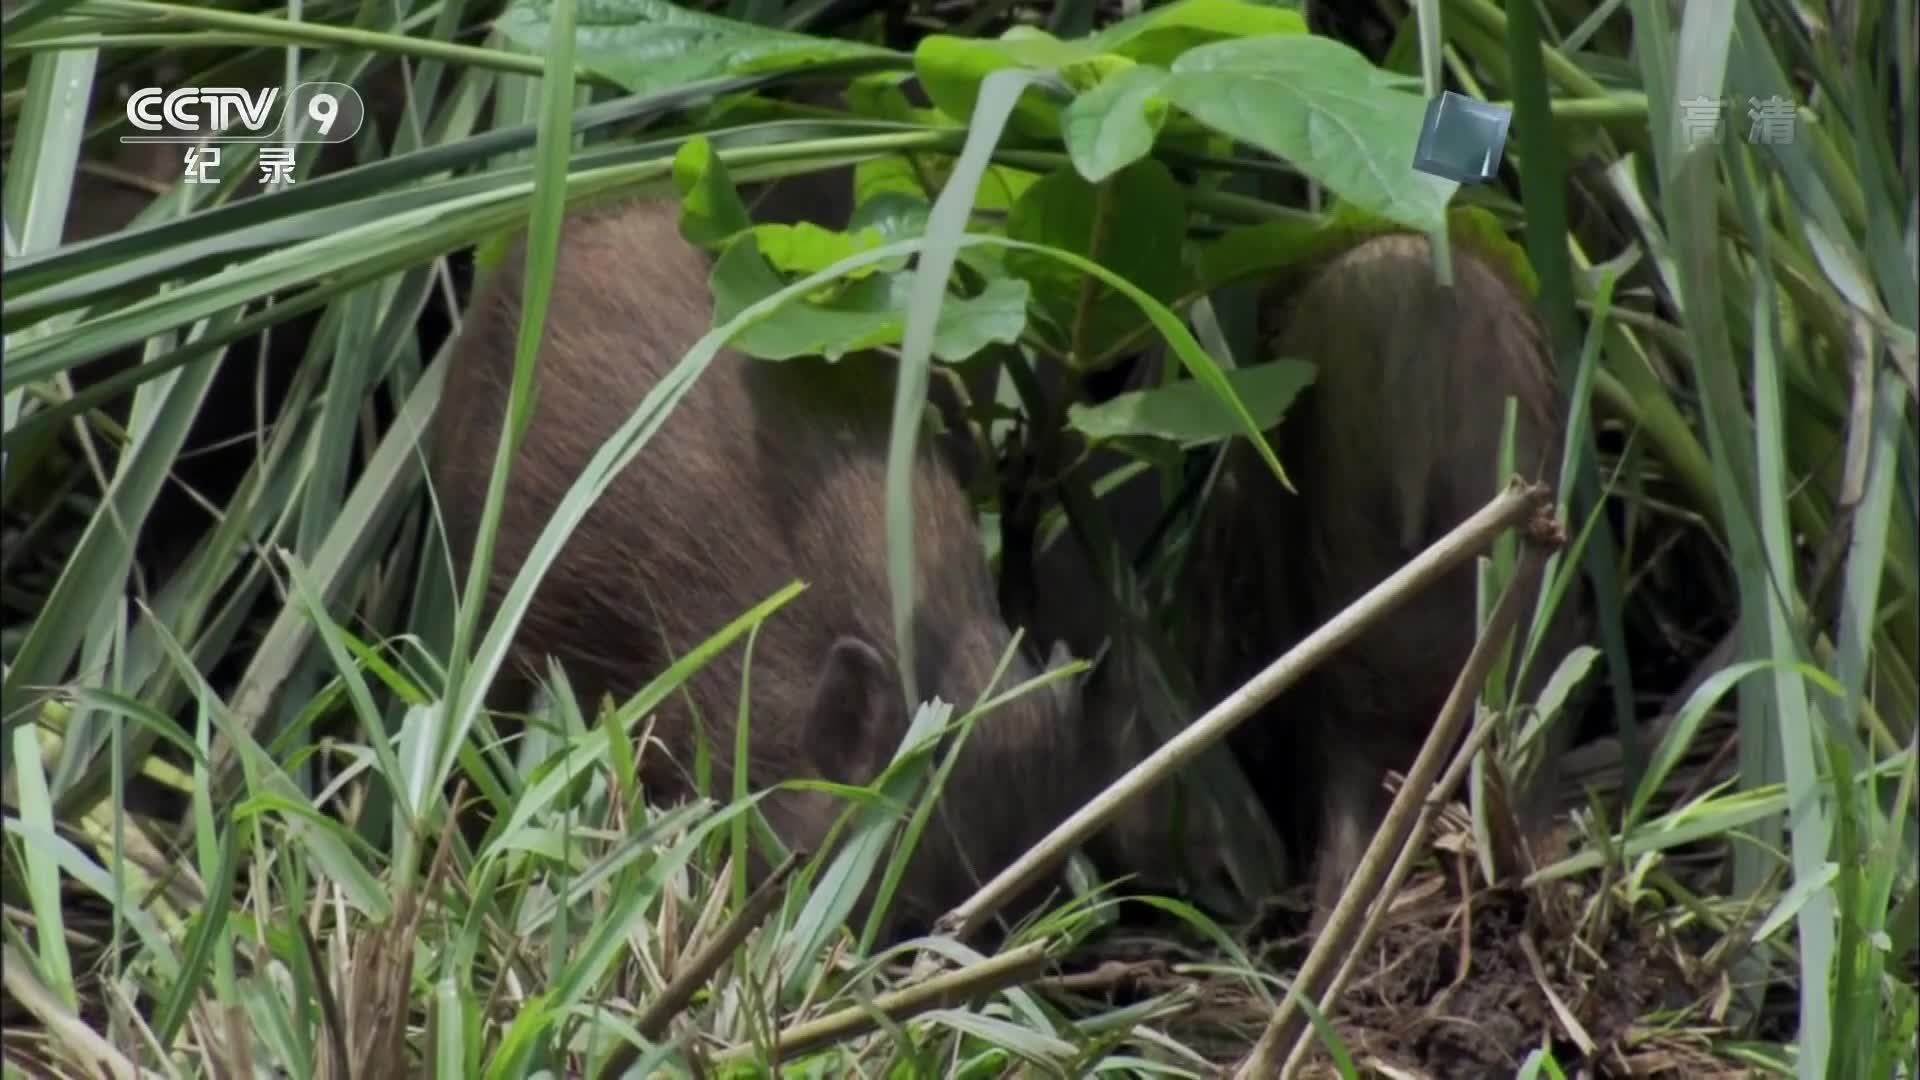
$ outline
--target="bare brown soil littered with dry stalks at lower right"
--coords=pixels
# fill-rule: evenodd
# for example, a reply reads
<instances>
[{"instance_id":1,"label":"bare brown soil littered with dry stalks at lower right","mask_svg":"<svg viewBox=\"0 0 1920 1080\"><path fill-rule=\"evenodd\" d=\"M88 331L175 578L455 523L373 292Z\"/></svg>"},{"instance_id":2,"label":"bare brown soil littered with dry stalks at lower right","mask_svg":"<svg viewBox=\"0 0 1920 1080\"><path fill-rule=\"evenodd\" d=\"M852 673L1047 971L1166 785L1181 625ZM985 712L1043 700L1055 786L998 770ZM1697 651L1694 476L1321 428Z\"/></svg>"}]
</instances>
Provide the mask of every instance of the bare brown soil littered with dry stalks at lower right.
<instances>
[{"instance_id":1,"label":"bare brown soil littered with dry stalks at lower right","mask_svg":"<svg viewBox=\"0 0 1920 1080\"><path fill-rule=\"evenodd\" d=\"M1563 826L1557 851L1536 865L1565 855L1571 832ZM1334 1011L1361 1076L1515 1076L1542 1045L1569 1078L1757 1074L1728 1049L1740 959L1728 942L1745 940L1751 924L1728 926L1682 901L1724 896L1724 846L1668 851L1638 882L1590 871L1526 890L1480 880L1465 807L1442 815L1427 846L1430 857L1392 897ZM1306 924L1302 890L1235 938L1261 970L1290 978L1313 944ZM1244 976L1217 970L1215 947L1167 938L1116 934L1089 945L1087 970L1068 978L1110 1001L1196 986L1194 1005L1160 1026L1231 1068L1271 1005ZM1791 988L1770 990L1761 1032L1789 1038ZM1304 1068L1309 1078L1338 1074L1325 1049Z\"/></svg>"}]
</instances>

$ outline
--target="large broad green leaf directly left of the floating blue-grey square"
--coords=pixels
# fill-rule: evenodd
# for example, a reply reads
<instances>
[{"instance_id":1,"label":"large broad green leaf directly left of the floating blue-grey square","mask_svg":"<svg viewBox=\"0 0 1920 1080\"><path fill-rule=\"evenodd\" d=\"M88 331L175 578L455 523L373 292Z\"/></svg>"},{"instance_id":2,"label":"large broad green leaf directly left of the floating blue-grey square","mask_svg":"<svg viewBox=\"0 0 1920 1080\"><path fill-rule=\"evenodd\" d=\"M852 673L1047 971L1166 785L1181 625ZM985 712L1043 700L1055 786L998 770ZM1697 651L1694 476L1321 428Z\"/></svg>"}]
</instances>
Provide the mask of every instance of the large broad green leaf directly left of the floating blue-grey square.
<instances>
[{"instance_id":1,"label":"large broad green leaf directly left of the floating blue-grey square","mask_svg":"<svg viewBox=\"0 0 1920 1080\"><path fill-rule=\"evenodd\" d=\"M1187 52L1162 92L1342 200L1430 233L1459 184L1413 169L1427 102L1400 83L1340 42L1273 35Z\"/></svg>"}]
</instances>

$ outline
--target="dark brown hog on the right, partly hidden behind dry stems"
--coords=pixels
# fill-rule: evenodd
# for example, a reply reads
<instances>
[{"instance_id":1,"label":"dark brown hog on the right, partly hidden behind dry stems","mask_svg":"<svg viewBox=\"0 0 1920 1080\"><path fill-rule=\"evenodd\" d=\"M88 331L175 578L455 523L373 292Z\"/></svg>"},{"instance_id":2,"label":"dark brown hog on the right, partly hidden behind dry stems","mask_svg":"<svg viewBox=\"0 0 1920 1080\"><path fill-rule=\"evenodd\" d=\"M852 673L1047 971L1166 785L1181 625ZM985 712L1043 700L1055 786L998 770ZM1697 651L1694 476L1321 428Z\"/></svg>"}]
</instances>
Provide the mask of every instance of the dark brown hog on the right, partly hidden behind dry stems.
<instances>
[{"instance_id":1,"label":"dark brown hog on the right, partly hidden behind dry stems","mask_svg":"<svg viewBox=\"0 0 1920 1080\"><path fill-rule=\"evenodd\" d=\"M1192 640L1212 655L1208 700L1229 692L1304 632L1478 511L1498 473L1505 400L1517 402L1515 469L1559 480L1563 421L1546 338L1526 294L1496 263L1453 248L1453 286L1432 271L1425 236L1365 240L1302 275L1267 306L1271 356L1319 367L1277 429L1298 498L1286 498L1252 454L1236 454L1235 488L1212 503L1196 552L1210 575L1215 625L1233 640ZM1300 281L1300 279L1296 279ZM1271 492L1267 498L1261 492ZM1217 557L1217 561L1213 561ZM1475 640L1475 569L1461 567L1329 659L1250 723L1250 767L1294 838L1313 838L1315 913L1325 917L1386 811L1388 769L1419 753ZM1532 611L1528 594L1528 607ZM1256 600L1258 611L1246 609ZM1523 621L1524 630L1524 621ZM1528 667L1530 703L1584 634L1578 590ZM1519 638L1517 638L1519 640ZM1519 648L1515 648L1515 661ZM1258 726L1256 726L1258 724ZM1548 822L1555 742L1515 799L1523 826ZM1256 780L1261 782L1261 780Z\"/></svg>"}]
</instances>

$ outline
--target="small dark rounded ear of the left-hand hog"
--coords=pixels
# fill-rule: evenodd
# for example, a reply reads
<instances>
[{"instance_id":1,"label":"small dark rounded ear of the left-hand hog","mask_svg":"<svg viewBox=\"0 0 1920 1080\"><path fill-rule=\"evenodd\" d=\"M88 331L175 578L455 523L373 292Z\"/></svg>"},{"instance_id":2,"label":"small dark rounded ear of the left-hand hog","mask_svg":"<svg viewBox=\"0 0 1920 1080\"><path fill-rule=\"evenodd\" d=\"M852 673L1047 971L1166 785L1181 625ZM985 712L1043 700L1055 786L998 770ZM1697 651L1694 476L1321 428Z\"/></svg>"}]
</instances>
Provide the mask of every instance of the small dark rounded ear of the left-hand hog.
<instances>
[{"instance_id":1,"label":"small dark rounded ear of the left-hand hog","mask_svg":"<svg viewBox=\"0 0 1920 1080\"><path fill-rule=\"evenodd\" d=\"M891 682L887 659L860 638L828 650L806 717L806 749L826 778L866 784L893 755L904 732Z\"/></svg>"}]
</instances>

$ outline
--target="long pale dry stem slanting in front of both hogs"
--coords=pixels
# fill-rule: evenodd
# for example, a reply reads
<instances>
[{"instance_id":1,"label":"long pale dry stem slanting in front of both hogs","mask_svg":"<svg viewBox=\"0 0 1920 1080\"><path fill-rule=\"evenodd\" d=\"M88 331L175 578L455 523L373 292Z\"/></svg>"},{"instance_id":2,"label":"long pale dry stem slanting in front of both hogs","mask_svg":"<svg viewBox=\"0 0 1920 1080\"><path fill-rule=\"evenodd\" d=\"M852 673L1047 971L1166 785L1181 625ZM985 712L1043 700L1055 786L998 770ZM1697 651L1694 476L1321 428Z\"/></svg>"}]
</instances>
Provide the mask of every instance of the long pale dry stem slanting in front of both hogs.
<instances>
[{"instance_id":1,"label":"long pale dry stem slanting in front of both hogs","mask_svg":"<svg viewBox=\"0 0 1920 1080\"><path fill-rule=\"evenodd\" d=\"M1386 580L1373 586L1300 644L1286 650L1281 659L1267 665L1265 671L1229 694L1219 705L1213 705L1204 717L1188 724L1187 730L1169 738L1160 749L1129 769L1127 774L1108 784L1104 792L1073 813L1073 817L1060 822L1044 840L1016 859L1014 865L1000 871L996 878L981 886L966 903L941 917L937 932L964 940L979 930L1008 899L1037 884L1068 853L1112 822L1125 803L1165 782L1188 761L1223 740L1246 717L1254 715L1306 673L1319 667L1336 650L1357 638L1367 626L1486 550L1496 536L1542 513L1549 505L1549 498L1551 490L1546 484L1511 480L1486 507L1436 540Z\"/></svg>"}]
</instances>

